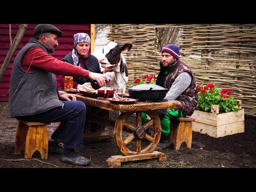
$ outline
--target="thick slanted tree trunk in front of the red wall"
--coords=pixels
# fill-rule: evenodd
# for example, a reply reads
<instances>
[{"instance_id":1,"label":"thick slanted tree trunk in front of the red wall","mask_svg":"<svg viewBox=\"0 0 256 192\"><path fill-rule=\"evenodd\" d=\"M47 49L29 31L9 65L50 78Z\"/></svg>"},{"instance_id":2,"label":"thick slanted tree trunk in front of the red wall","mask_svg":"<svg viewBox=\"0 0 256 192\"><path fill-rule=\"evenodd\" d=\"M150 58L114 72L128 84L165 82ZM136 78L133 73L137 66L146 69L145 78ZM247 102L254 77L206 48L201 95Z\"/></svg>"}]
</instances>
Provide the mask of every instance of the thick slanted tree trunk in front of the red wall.
<instances>
[{"instance_id":1,"label":"thick slanted tree trunk in front of the red wall","mask_svg":"<svg viewBox=\"0 0 256 192\"><path fill-rule=\"evenodd\" d=\"M6 69L12 60L12 56L14 55L16 49L18 48L20 41L22 40L24 33L26 32L26 29L28 27L28 24L20 24L19 30L16 34L16 37L14 38L12 45L10 46L10 49L6 55L6 58L2 64L2 67L0 69L0 82L4 76L4 73L6 72Z\"/></svg>"}]
</instances>

